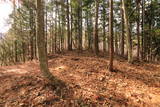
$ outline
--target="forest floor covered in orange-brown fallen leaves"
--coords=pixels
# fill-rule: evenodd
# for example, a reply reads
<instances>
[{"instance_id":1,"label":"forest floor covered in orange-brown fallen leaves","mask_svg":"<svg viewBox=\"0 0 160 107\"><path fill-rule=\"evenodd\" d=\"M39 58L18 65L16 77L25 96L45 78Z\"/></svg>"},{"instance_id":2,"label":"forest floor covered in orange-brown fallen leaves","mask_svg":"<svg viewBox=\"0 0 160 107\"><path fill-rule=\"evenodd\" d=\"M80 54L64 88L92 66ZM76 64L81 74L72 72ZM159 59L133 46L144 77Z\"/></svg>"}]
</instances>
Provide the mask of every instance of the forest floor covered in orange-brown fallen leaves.
<instances>
[{"instance_id":1,"label":"forest floor covered in orange-brown fallen leaves","mask_svg":"<svg viewBox=\"0 0 160 107\"><path fill-rule=\"evenodd\" d=\"M38 61L0 67L0 107L160 107L160 64L128 64L116 58L67 52L49 57L49 69L65 82L54 87Z\"/></svg>"}]
</instances>

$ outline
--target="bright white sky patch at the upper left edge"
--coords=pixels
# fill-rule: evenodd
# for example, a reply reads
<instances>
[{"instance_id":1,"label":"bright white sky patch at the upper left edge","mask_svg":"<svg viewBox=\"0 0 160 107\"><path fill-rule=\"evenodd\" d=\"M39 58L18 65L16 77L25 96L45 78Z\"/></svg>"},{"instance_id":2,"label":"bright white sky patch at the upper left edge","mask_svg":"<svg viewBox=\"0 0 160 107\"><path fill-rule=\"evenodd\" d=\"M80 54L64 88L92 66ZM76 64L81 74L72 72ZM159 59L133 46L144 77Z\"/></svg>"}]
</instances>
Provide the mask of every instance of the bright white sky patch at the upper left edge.
<instances>
[{"instance_id":1,"label":"bright white sky patch at the upper left edge","mask_svg":"<svg viewBox=\"0 0 160 107\"><path fill-rule=\"evenodd\" d=\"M12 4L10 2L4 2L0 0L0 33L5 33L9 30L7 19L12 12Z\"/></svg>"}]
</instances>

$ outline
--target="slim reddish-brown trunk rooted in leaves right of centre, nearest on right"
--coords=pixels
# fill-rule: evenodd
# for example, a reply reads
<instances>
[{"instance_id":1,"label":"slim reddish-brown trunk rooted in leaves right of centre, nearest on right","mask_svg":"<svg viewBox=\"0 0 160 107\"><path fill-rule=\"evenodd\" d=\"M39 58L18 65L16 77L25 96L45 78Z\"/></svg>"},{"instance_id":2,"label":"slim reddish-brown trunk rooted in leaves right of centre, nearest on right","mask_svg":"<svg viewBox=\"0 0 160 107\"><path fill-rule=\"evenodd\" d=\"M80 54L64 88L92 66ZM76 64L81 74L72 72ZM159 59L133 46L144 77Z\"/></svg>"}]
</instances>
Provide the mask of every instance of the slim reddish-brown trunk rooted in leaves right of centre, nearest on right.
<instances>
[{"instance_id":1,"label":"slim reddish-brown trunk rooted in leaves right of centre, nearest on right","mask_svg":"<svg viewBox=\"0 0 160 107\"><path fill-rule=\"evenodd\" d=\"M109 71L113 71L113 57L114 57L114 42L113 42L113 0L109 0Z\"/></svg>"}]
</instances>

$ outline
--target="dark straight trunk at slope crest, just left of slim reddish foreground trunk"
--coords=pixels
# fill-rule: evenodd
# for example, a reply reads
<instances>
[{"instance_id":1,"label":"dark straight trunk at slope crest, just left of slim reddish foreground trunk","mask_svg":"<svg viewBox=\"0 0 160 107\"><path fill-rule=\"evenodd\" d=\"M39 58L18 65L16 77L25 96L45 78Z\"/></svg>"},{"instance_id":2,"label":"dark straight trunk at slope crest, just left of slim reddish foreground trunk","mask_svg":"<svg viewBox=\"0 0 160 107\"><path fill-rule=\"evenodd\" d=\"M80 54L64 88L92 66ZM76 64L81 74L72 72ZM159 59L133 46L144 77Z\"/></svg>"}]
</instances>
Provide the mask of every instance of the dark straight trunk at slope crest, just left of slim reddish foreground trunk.
<instances>
[{"instance_id":1,"label":"dark straight trunk at slope crest, just left of slim reddish foreground trunk","mask_svg":"<svg viewBox=\"0 0 160 107\"><path fill-rule=\"evenodd\" d=\"M94 27L94 50L95 54L98 55L99 45L98 45L98 12L99 12L99 1L96 0L96 12L95 12L95 27Z\"/></svg>"}]
</instances>

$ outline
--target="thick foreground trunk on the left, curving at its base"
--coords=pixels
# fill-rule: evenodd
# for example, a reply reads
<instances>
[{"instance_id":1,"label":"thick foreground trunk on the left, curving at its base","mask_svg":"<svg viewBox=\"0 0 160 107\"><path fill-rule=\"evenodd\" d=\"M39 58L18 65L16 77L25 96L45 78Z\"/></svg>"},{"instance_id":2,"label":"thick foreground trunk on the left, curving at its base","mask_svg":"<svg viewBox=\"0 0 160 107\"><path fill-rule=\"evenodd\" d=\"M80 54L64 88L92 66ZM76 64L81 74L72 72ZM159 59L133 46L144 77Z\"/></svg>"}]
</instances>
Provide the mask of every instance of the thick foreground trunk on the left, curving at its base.
<instances>
[{"instance_id":1,"label":"thick foreground trunk on the left, curving at its base","mask_svg":"<svg viewBox=\"0 0 160 107\"><path fill-rule=\"evenodd\" d=\"M55 77L48 69L48 60L45 49L45 31L44 31L44 1L37 0L37 44L38 44L38 54L40 62L40 70L44 77L50 81L55 80Z\"/></svg>"}]
</instances>

